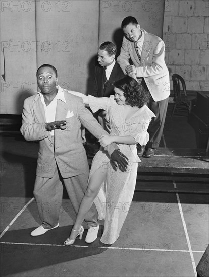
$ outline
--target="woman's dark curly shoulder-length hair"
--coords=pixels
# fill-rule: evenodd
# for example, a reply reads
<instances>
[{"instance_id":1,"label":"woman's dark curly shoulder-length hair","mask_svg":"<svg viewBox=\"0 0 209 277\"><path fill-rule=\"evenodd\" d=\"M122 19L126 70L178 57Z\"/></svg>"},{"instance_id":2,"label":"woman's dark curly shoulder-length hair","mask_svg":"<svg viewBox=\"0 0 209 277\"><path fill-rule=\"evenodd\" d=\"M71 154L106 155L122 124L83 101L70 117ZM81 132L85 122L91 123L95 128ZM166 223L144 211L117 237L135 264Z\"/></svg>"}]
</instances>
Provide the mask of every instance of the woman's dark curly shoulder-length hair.
<instances>
[{"instance_id":1,"label":"woman's dark curly shoulder-length hair","mask_svg":"<svg viewBox=\"0 0 209 277\"><path fill-rule=\"evenodd\" d=\"M139 83L132 77L126 76L114 82L114 86L123 91L126 98L126 104L131 107L143 107L144 104L149 103L150 93L145 90Z\"/></svg>"}]
</instances>

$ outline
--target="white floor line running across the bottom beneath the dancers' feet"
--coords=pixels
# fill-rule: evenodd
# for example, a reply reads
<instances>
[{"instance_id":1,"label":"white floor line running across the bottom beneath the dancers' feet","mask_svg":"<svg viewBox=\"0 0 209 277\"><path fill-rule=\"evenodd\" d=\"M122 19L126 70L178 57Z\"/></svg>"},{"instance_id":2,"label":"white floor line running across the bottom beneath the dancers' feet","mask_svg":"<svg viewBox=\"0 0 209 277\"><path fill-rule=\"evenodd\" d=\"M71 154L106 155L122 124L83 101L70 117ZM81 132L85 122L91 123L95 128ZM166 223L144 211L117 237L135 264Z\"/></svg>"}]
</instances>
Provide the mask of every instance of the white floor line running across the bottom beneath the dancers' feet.
<instances>
[{"instance_id":1,"label":"white floor line running across the bottom beneath the dancers' feet","mask_svg":"<svg viewBox=\"0 0 209 277\"><path fill-rule=\"evenodd\" d=\"M173 249L150 249L150 248L126 248L126 247L113 247L113 246L88 246L88 245L64 245L64 244L44 244L44 243L21 243L21 242L3 242L0 244L20 244L20 245L34 245L34 246L63 246L63 247L84 247L84 248L103 248L103 249L119 249L119 250L139 250L139 251L158 251L158 252L186 252L189 250L173 250ZM204 251L194 250L193 253L204 253Z\"/></svg>"}]
</instances>

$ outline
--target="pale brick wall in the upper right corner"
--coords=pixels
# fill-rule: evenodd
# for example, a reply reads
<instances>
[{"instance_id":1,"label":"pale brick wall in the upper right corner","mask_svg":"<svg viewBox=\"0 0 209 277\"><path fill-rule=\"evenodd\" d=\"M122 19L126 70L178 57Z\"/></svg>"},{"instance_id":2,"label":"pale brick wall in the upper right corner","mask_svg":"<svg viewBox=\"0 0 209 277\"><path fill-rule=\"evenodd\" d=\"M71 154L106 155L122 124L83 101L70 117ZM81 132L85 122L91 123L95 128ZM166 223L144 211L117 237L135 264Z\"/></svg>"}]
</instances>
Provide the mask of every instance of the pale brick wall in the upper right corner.
<instances>
[{"instance_id":1,"label":"pale brick wall in the upper right corner","mask_svg":"<svg viewBox=\"0 0 209 277\"><path fill-rule=\"evenodd\" d=\"M163 40L171 76L181 75L187 90L209 90L209 1L165 0Z\"/></svg>"}]
</instances>

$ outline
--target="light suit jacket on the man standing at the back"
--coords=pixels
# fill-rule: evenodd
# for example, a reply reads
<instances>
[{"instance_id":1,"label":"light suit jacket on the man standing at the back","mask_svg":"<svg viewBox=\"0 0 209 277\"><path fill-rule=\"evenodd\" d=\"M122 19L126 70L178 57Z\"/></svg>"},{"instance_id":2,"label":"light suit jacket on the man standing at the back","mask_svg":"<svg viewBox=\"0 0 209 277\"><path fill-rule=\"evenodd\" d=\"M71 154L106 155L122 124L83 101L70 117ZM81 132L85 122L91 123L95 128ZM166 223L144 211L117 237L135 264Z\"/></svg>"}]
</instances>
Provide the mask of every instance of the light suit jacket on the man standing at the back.
<instances>
[{"instance_id":1,"label":"light suit jacket on the man standing at the back","mask_svg":"<svg viewBox=\"0 0 209 277\"><path fill-rule=\"evenodd\" d=\"M130 64L131 58L136 66L136 77L144 78L154 101L164 100L170 95L169 71L164 60L165 44L160 37L141 30L144 32L141 61L136 54L134 43L124 36L117 62L125 73L125 67Z\"/></svg>"}]
</instances>

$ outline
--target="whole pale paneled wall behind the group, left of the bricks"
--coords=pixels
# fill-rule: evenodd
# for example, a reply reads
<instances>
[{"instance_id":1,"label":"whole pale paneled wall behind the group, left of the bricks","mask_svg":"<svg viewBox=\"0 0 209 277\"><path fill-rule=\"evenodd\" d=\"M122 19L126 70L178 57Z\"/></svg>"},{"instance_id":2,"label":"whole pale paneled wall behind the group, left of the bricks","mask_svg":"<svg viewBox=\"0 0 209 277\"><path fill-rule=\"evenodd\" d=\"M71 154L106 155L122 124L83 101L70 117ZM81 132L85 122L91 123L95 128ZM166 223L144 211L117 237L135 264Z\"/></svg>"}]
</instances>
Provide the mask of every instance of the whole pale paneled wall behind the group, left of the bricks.
<instances>
[{"instance_id":1,"label":"whole pale paneled wall behind the group, left of the bricks","mask_svg":"<svg viewBox=\"0 0 209 277\"><path fill-rule=\"evenodd\" d=\"M90 92L98 45L111 40L120 47L121 21L129 15L162 36L164 1L1 1L0 112L22 113L43 63L57 68L62 87Z\"/></svg>"}]
</instances>

